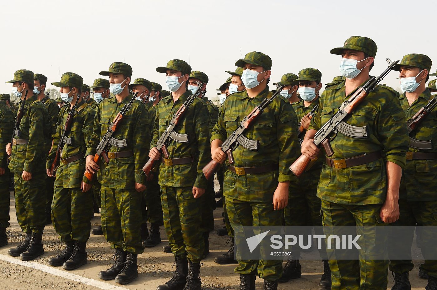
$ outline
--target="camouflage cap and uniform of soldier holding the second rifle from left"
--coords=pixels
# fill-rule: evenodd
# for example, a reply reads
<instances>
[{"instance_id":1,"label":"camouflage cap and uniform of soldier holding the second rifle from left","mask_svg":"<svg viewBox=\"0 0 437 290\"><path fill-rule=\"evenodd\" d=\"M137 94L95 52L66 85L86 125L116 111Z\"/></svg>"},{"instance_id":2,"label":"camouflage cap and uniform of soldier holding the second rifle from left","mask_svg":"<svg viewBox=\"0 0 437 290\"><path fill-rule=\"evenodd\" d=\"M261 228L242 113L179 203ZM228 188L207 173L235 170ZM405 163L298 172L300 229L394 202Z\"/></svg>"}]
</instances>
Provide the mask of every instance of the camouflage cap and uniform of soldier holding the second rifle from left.
<instances>
[{"instance_id":1,"label":"camouflage cap and uniform of soldier holding the second rifle from left","mask_svg":"<svg viewBox=\"0 0 437 290\"><path fill-rule=\"evenodd\" d=\"M62 74L61 81L52 83L55 87L80 88L83 78L74 73ZM63 106L59 112L58 126L53 137L53 146L46 162L46 169L52 167L58 143L64 132L70 106ZM89 183L83 176L85 172L85 152L87 143L90 142L93 132L95 111L82 99L77 103L73 115L73 123L70 132L66 134L71 138L71 144L64 144L60 156L61 160L74 158L79 159L67 164L59 162L56 170L55 189L52 202L52 223L56 233L62 242L86 242L90 237L92 216L92 196L90 192L82 192L81 182ZM81 156L80 156L81 155Z\"/></svg>"}]
</instances>

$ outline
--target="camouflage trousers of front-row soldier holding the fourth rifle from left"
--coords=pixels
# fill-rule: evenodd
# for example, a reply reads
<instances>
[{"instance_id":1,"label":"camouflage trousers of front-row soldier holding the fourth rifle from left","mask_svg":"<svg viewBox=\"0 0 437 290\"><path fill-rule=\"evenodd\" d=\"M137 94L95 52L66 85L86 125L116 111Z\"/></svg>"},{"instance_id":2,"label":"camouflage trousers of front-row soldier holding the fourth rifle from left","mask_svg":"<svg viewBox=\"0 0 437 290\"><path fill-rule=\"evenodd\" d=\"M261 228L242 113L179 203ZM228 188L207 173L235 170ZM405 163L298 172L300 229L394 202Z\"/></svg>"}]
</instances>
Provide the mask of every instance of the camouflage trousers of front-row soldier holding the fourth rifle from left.
<instances>
[{"instance_id":1,"label":"camouflage trousers of front-row soldier holding the fourth rifle from left","mask_svg":"<svg viewBox=\"0 0 437 290\"><path fill-rule=\"evenodd\" d=\"M193 188L161 186L164 227L175 257L199 263L204 250L201 227L201 200Z\"/></svg>"}]
</instances>

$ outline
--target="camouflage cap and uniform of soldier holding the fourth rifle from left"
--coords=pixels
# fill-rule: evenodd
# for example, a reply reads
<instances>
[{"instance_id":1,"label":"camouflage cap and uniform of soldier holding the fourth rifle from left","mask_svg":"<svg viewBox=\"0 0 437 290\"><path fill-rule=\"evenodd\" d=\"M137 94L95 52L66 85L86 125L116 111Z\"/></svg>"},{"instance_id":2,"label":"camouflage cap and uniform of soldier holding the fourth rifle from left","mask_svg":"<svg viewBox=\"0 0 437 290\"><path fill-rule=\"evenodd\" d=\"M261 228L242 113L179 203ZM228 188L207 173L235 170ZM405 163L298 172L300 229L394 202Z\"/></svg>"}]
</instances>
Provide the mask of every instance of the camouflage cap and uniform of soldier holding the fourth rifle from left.
<instances>
[{"instance_id":1,"label":"camouflage cap and uniform of soldier holding the fourth rifle from left","mask_svg":"<svg viewBox=\"0 0 437 290\"><path fill-rule=\"evenodd\" d=\"M191 67L180 60L172 60L167 67L156 68L165 73L167 68L190 74ZM156 147L160 135L167 128L173 114L191 95L186 91L178 100L173 101L172 94L161 99L156 105L155 128L150 147ZM182 123L175 132L188 134L189 143L170 142L169 158L193 157L193 162L183 165L160 165L159 184L161 185L161 202L164 212L164 226L174 256L188 259L190 263L199 263L204 250L201 231L201 198L195 199L192 188L205 189L207 180L202 169L211 158L208 144L209 133L208 109L203 101L196 98L185 112Z\"/></svg>"}]
</instances>

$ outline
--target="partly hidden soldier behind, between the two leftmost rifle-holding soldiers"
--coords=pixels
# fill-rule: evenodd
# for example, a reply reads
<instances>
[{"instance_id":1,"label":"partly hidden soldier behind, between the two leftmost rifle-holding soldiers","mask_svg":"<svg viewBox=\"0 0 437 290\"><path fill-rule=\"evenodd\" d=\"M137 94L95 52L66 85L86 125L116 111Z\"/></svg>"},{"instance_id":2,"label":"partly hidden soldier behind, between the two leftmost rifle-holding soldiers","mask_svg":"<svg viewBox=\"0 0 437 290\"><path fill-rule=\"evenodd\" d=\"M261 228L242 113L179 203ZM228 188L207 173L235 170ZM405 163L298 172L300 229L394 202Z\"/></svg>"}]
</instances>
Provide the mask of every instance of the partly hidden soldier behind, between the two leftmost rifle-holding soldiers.
<instances>
[{"instance_id":1,"label":"partly hidden soldier behind, between the two leftmost rifle-holding soldiers","mask_svg":"<svg viewBox=\"0 0 437 290\"><path fill-rule=\"evenodd\" d=\"M59 115L59 106L56 105L56 101L52 98L49 98L49 96L45 96L45 84L47 83L47 77L43 74L35 74L35 80L33 88L33 92L38 96L38 100L41 101L45 108L47 108L47 111L49 112L49 118L50 118L50 125L52 127L52 132L46 140L44 140L44 152L46 154L45 158L49 155L50 148L52 147L52 141L53 136L56 132L56 126L58 125L58 115ZM45 177L45 216L46 216L46 223L52 223L52 199L53 199L53 183L55 182L54 177Z\"/></svg>"}]
</instances>

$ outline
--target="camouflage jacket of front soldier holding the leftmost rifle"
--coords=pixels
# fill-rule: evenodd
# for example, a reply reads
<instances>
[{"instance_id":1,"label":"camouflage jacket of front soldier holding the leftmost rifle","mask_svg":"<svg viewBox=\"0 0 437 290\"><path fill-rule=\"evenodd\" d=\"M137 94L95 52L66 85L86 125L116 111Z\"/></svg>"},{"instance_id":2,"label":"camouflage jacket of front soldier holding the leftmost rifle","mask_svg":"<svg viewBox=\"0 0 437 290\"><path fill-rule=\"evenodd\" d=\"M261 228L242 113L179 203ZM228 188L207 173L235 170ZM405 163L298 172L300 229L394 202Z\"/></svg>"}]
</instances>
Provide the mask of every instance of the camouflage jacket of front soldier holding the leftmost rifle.
<instances>
[{"instance_id":1,"label":"camouflage jacket of front soldier holding the leftmost rifle","mask_svg":"<svg viewBox=\"0 0 437 290\"><path fill-rule=\"evenodd\" d=\"M21 105L22 100L20 100ZM21 173L23 170L35 173L45 172L44 140L47 140L51 133L49 113L38 101L36 95L26 98L24 103L24 115L18 128L19 135L15 132L15 139L26 139L28 144L12 146L9 169L11 172ZM42 180L44 183L44 180Z\"/></svg>"}]
</instances>

